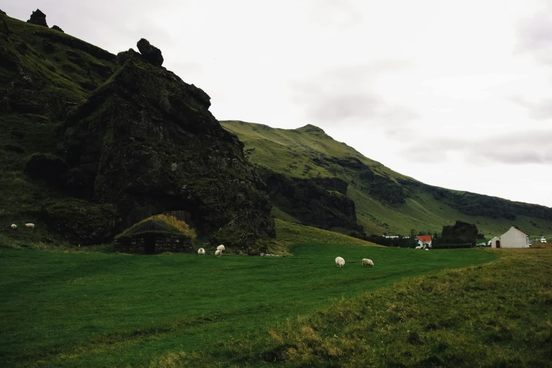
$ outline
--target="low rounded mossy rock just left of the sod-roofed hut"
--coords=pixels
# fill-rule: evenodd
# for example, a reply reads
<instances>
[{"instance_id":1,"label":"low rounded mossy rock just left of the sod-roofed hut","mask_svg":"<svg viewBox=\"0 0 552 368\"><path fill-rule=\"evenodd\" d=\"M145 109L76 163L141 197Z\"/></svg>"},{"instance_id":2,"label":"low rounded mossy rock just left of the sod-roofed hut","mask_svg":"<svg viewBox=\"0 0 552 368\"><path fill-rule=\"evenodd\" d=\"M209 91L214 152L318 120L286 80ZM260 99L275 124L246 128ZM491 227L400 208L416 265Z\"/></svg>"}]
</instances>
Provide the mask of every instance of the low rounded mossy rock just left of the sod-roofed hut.
<instances>
[{"instance_id":1,"label":"low rounded mossy rock just left of the sod-roofed hut","mask_svg":"<svg viewBox=\"0 0 552 368\"><path fill-rule=\"evenodd\" d=\"M47 202L42 206L44 221L75 244L106 243L121 223L112 204L92 204L73 198Z\"/></svg>"}]
</instances>

